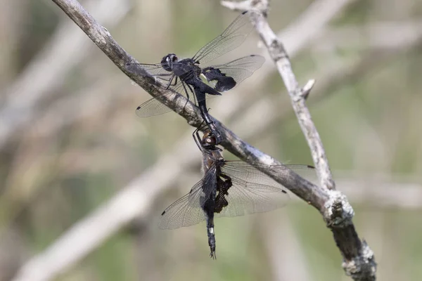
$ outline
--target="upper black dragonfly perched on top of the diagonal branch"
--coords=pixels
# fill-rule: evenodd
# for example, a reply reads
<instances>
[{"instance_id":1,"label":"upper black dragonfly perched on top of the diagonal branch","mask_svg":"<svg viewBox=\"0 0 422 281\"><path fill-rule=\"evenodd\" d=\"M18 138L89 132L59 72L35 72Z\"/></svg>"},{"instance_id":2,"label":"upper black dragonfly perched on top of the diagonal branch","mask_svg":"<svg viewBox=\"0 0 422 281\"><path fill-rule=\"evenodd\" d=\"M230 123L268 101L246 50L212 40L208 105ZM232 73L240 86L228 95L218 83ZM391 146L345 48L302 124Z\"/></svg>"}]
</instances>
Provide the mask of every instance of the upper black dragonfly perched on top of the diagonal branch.
<instances>
[{"instance_id":1,"label":"upper black dragonfly perched on top of the diagonal branch","mask_svg":"<svg viewBox=\"0 0 422 281\"><path fill-rule=\"evenodd\" d=\"M141 76L148 74L153 77L165 90L165 95L179 93L188 100L193 97L201 116L219 144L222 136L210 118L205 100L234 89L259 69L265 59L260 55L247 55L220 65L207 66L207 63L240 46L251 31L248 11L245 11L231 22L222 34L200 48L192 58L180 59L174 53L169 53L160 63L127 63L126 67L135 74ZM156 98L151 98L136 108L136 115L139 117L161 115L166 112L170 112L170 108Z\"/></svg>"}]
</instances>

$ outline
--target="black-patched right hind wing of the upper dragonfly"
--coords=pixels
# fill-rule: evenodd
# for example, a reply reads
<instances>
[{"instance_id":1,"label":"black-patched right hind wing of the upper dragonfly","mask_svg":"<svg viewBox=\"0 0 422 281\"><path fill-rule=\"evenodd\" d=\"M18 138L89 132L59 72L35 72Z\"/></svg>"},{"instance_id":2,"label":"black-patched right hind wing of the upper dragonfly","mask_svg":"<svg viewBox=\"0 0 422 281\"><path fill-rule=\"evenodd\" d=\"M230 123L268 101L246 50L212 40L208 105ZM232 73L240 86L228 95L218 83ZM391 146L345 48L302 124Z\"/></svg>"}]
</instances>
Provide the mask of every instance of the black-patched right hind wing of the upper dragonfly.
<instances>
[{"instance_id":1,"label":"black-patched right hind wing of the upper dragonfly","mask_svg":"<svg viewBox=\"0 0 422 281\"><path fill-rule=\"evenodd\" d=\"M227 91L250 77L255 70L262 66L264 61L265 58L261 55L248 55L222 65L205 67L202 73L214 89L217 91ZM229 77L234 79L234 81L230 82L231 79ZM228 83L225 82L227 79L229 79Z\"/></svg>"}]
</instances>

